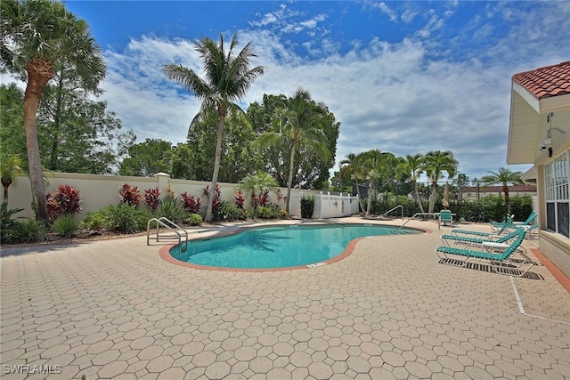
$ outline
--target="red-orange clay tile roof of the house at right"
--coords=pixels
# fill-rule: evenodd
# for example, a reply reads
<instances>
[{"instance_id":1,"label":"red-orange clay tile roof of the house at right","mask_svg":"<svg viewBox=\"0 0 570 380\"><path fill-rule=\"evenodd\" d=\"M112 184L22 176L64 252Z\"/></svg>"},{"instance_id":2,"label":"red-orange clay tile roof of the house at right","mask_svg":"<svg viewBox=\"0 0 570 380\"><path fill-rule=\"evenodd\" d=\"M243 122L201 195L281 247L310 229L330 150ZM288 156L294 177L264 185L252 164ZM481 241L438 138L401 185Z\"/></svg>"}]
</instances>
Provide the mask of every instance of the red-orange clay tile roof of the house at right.
<instances>
[{"instance_id":1,"label":"red-orange clay tile roof of the house at right","mask_svg":"<svg viewBox=\"0 0 570 380\"><path fill-rule=\"evenodd\" d=\"M570 61L515 74L513 82L523 86L538 100L565 95L570 93Z\"/></svg>"}]
</instances>

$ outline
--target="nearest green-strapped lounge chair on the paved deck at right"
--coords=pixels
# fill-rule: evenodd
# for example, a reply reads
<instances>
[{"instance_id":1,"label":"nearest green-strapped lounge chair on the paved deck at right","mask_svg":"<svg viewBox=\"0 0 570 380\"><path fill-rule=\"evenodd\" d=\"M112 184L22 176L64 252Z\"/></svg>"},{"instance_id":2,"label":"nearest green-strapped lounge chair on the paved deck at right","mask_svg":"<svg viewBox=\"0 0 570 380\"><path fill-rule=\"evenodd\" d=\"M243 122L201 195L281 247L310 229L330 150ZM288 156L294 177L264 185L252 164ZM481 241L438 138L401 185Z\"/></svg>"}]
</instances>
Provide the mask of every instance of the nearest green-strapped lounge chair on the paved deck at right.
<instances>
[{"instance_id":1,"label":"nearest green-strapped lounge chair on the paved deck at right","mask_svg":"<svg viewBox=\"0 0 570 380\"><path fill-rule=\"evenodd\" d=\"M454 258L464 257L463 260L459 260L463 267L467 266L471 261L480 261L488 263L495 272L504 273L505 271L500 271L500 269L508 267L510 270L517 270L517 276L524 276L533 267L534 262L525 254L525 249L520 247L523 239L525 239L525 230L518 229L516 232L516 238L510 244L498 243L496 241L482 242L482 250L470 249L470 246L464 248L441 246L436 248L436 254L440 259L450 259L450 255L455 256ZM519 249L519 247L522 249ZM497 250L500 252L496 252ZM511 261L511 256L515 253L523 255L524 260L522 262L520 260ZM528 267L522 270L525 264ZM512 271L507 273L513 274Z\"/></svg>"}]
</instances>

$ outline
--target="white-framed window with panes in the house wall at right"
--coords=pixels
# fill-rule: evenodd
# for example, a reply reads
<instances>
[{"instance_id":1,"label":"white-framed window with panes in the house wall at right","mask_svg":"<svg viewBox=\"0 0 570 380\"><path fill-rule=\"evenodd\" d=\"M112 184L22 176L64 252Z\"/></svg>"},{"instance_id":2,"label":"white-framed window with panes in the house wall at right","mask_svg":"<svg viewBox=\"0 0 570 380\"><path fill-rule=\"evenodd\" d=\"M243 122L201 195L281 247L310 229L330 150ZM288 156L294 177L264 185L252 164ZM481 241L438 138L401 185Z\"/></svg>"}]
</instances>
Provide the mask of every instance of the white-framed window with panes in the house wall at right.
<instances>
[{"instance_id":1,"label":"white-framed window with panes in the house wall at right","mask_svg":"<svg viewBox=\"0 0 570 380\"><path fill-rule=\"evenodd\" d=\"M546 228L570 237L570 150L544 166Z\"/></svg>"}]
</instances>

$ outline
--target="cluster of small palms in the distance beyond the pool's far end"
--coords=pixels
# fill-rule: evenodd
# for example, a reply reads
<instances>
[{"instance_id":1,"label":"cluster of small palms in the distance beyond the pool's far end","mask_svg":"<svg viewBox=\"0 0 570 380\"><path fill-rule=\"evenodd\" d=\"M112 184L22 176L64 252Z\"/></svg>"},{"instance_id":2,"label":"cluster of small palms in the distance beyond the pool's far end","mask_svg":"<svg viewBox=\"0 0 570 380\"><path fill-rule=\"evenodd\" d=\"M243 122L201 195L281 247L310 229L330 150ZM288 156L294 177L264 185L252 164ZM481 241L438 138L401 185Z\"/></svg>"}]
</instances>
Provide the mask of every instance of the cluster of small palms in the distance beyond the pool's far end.
<instances>
[{"instance_id":1,"label":"cluster of small palms in the distance beyond the pool's far end","mask_svg":"<svg viewBox=\"0 0 570 380\"><path fill-rule=\"evenodd\" d=\"M431 183L428 213L433 213L436 206L437 182L445 177L451 179L456 174L459 163L453 158L453 154L449 150L430 151L425 155L418 153L408 155L405 158L396 158L390 152L369 150L357 155L347 155L346 159L340 161L339 166L340 180L350 178L356 185L359 198L361 198L360 184L366 183L368 185L366 208L361 203L361 208L366 210L366 214L371 213L371 198L373 198L379 185L387 186L390 183L402 181L413 184L414 198L416 198L419 209L423 213L424 208L419 198L418 178L422 174L426 174Z\"/></svg>"}]
</instances>

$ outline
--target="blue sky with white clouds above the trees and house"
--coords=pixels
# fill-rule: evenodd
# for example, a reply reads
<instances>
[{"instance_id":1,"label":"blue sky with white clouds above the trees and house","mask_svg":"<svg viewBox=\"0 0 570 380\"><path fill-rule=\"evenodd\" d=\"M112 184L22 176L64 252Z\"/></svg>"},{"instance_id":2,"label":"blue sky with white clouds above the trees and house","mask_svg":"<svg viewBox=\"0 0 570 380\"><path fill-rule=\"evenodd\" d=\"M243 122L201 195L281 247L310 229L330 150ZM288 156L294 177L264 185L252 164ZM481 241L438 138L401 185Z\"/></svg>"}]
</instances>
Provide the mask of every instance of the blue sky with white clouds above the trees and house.
<instances>
[{"instance_id":1,"label":"blue sky with white clouds above the trees and house","mask_svg":"<svg viewBox=\"0 0 570 380\"><path fill-rule=\"evenodd\" d=\"M303 87L340 126L337 162L452 150L470 179L506 165L513 74L570 59L570 2L68 1L101 44L108 109L137 142L184 142L199 102L167 81L200 70L192 41L252 43L265 75L243 101ZM525 171L530 166L508 166ZM335 166L338 170L338 166Z\"/></svg>"}]
</instances>

